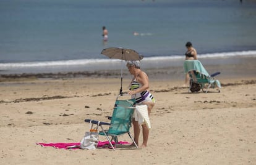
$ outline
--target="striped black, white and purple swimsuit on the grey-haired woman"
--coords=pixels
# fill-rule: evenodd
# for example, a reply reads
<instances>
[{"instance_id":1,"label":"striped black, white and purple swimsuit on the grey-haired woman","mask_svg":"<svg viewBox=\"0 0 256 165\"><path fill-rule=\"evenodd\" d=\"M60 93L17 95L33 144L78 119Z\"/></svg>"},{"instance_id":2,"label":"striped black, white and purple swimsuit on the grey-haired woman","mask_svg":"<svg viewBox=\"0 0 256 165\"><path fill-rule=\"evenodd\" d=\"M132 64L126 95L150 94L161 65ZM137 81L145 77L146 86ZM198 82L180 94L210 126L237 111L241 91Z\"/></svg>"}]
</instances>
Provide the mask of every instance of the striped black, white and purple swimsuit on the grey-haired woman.
<instances>
[{"instance_id":1,"label":"striped black, white and purple swimsuit on the grey-haired woman","mask_svg":"<svg viewBox=\"0 0 256 165\"><path fill-rule=\"evenodd\" d=\"M135 90L135 89L139 89L140 86L142 86L136 79L134 79L134 81L132 81L131 86L130 86L130 90ZM155 98L153 97L153 95L150 94L149 91L143 91L137 94L132 95L132 99L136 100L137 104L143 103L143 102L153 102L155 103Z\"/></svg>"}]
</instances>

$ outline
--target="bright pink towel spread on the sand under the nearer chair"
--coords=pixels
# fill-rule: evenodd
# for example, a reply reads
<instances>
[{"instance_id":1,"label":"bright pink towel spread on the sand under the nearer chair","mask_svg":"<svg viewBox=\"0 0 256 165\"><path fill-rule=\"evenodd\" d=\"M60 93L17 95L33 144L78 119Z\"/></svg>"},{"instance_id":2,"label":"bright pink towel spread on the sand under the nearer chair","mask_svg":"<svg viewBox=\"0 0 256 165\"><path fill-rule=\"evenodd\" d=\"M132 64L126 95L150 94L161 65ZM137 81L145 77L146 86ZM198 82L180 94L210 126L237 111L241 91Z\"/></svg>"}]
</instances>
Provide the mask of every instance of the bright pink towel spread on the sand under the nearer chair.
<instances>
[{"instance_id":1,"label":"bright pink towel spread on the sand under the nearer chair","mask_svg":"<svg viewBox=\"0 0 256 165\"><path fill-rule=\"evenodd\" d=\"M115 145L115 142L111 142L113 145ZM108 145L108 141L105 142L98 142L97 148L101 148L104 145ZM130 144L129 142L118 142L117 144ZM41 145L42 147L54 147L54 148L60 148L60 149L80 149L80 143L36 143L36 145Z\"/></svg>"}]
</instances>

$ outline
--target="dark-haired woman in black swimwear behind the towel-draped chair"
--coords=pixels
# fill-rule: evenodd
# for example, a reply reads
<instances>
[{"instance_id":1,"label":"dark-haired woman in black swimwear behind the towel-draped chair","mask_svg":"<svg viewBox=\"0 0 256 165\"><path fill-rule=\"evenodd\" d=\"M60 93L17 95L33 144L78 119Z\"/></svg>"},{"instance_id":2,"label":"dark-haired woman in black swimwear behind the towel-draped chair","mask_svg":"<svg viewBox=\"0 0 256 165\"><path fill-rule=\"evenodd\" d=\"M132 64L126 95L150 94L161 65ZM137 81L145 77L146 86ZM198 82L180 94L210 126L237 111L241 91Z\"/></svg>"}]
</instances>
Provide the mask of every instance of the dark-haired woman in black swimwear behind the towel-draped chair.
<instances>
[{"instance_id":1,"label":"dark-haired woman in black swimwear behind the towel-draped chair","mask_svg":"<svg viewBox=\"0 0 256 165\"><path fill-rule=\"evenodd\" d=\"M197 50L192 46L191 42L186 43L187 51L185 53L185 60L197 60ZM186 73L185 84L183 86L189 85L189 73Z\"/></svg>"}]
</instances>

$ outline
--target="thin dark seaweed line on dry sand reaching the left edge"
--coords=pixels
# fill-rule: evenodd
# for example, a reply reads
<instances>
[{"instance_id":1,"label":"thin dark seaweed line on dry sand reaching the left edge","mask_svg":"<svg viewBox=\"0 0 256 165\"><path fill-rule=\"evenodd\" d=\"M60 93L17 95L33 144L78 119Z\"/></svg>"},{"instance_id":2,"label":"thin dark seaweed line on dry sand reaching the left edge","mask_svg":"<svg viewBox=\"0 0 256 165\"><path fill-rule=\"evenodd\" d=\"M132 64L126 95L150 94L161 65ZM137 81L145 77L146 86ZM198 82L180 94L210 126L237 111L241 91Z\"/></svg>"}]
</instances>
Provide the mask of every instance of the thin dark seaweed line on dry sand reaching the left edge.
<instances>
[{"instance_id":1,"label":"thin dark seaweed line on dry sand reaching the left edge","mask_svg":"<svg viewBox=\"0 0 256 165\"><path fill-rule=\"evenodd\" d=\"M38 102L42 100L53 100L53 99L65 99L65 98L70 98L70 97L78 97L78 96L61 96L61 95L56 95L53 97L38 97L38 98L26 98L26 99L16 99L11 102L6 102L4 100L0 100L0 103L20 103L20 102Z\"/></svg>"}]
</instances>

